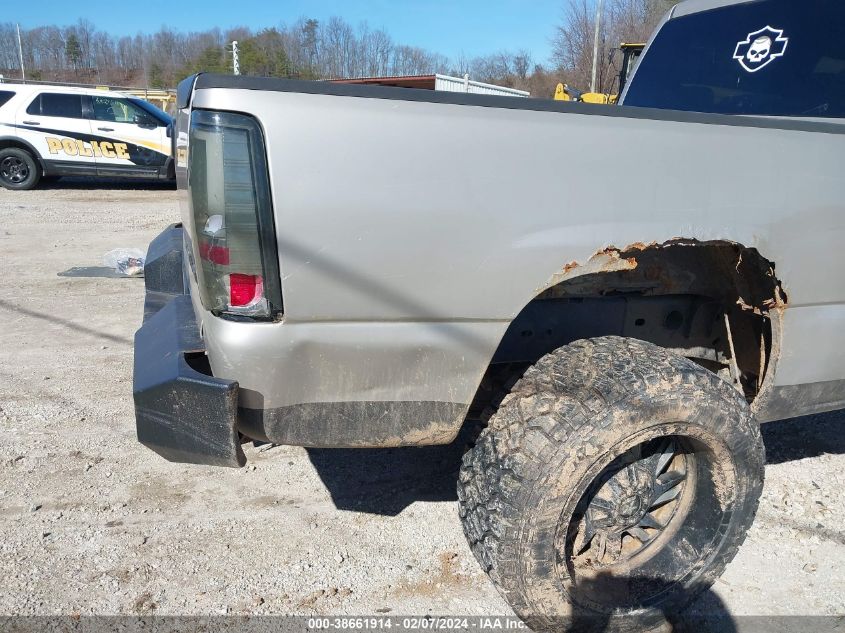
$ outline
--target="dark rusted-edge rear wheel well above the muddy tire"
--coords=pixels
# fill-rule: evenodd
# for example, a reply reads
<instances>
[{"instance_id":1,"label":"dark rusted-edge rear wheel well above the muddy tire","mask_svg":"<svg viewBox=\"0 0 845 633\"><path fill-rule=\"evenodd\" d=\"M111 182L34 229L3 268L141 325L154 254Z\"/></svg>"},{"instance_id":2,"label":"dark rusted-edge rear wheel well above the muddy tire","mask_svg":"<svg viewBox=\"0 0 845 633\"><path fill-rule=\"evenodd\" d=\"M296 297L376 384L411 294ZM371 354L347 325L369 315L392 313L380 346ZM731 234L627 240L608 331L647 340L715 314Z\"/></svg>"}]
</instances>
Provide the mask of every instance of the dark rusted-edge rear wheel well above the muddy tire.
<instances>
[{"instance_id":1,"label":"dark rusted-edge rear wheel well above the muddy tire","mask_svg":"<svg viewBox=\"0 0 845 633\"><path fill-rule=\"evenodd\" d=\"M735 242L676 239L606 248L564 266L516 316L470 416L497 404L543 355L605 335L671 349L754 402L771 382L786 300L774 263Z\"/></svg>"}]
</instances>

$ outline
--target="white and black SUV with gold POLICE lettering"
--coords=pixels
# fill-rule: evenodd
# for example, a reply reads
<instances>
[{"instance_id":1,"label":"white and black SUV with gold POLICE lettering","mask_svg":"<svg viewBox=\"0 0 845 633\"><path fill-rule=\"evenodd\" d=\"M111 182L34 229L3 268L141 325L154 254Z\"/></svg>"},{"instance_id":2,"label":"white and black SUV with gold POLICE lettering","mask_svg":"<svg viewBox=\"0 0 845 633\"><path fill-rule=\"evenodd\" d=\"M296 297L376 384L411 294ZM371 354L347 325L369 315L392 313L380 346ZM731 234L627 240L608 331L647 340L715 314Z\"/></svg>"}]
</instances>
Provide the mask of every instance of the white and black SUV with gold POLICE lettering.
<instances>
[{"instance_id":1,"label":"white and black SUV with gold POLICE lettering","mask_svg":"<svg viewBox=\"0 0 845 633\"><path fill-rule=\"evenodd\" d=\"M173 179L171 119L119 92L0 84L0 185L42 177Z\"/></svg>"}]
</instances>

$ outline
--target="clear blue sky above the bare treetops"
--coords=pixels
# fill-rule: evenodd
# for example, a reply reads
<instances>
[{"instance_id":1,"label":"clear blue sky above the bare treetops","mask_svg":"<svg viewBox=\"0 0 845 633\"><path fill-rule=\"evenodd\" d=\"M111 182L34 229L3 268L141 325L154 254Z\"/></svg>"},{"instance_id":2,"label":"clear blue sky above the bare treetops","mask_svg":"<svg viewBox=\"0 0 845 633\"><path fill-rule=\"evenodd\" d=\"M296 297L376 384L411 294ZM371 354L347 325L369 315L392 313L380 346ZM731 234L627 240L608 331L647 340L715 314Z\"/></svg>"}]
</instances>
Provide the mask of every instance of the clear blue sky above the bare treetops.
<instances>
[{"instance_id":1,"label":"clear blue sky above the bare treetops","mask_svg":"<svg viewBox=\"0 0 845 633\"><path fill-rule=\"evenodd\" d=\"M46 5L46 6L45 6ZM353 25L366 21L383 28L398 42L457 58L499 50L527 49L535 62L546 62L550 39L560 22L563 0L48 0L15 5L14 19L23 28L60 26L85 18L114 35L178 31L213 26L261 28L290 23L301 16L318 20L338 15Z\"/></svg>"}]
</instances>

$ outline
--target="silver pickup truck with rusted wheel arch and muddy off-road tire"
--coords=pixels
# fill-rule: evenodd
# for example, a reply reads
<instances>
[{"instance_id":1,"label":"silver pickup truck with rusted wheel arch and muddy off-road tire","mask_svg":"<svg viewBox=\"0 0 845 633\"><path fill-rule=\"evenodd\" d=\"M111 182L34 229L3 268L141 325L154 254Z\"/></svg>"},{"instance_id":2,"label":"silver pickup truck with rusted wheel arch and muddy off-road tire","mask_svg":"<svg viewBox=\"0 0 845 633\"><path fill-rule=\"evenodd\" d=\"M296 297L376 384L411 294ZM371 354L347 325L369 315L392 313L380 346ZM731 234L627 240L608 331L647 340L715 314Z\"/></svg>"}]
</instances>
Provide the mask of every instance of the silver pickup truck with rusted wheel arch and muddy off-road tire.
<instances>
[{"instance_id":1,"label":"silver pickup truck with rusted wheel arch and muddy off-road tire","mask_svg":"<svg viewBox=\"0 0 845 633\"><path fill-rule=\"evenodd\" d=\"M659 623L751 525L759 423L845 407L844 97L835 0L682 3L620 106L190 77L139 440L480 421L460 517L515 612Z\"/></svg>"}]
</instances>

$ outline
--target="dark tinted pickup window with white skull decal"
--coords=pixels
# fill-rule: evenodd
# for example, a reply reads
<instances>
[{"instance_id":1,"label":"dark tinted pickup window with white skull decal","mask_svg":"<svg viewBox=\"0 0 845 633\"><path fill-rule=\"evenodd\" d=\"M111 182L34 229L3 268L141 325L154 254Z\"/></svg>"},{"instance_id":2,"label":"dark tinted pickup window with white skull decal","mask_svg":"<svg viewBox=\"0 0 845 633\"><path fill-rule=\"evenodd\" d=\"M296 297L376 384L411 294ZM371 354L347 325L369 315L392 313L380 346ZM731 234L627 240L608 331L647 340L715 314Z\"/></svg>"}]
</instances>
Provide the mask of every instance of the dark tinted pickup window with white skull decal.
<instances>
[{"instance_id":1,"label":"dark tinted pickup window with white skull decal","mask_svg":"<svg viewBox=\"0 0 845 633\"><path fill-rule=\"evenodd\" d=\"M764 0L669 20L640 61L624 104L842 117L845 2Z\"/></svg>"}]
</instances>

